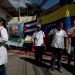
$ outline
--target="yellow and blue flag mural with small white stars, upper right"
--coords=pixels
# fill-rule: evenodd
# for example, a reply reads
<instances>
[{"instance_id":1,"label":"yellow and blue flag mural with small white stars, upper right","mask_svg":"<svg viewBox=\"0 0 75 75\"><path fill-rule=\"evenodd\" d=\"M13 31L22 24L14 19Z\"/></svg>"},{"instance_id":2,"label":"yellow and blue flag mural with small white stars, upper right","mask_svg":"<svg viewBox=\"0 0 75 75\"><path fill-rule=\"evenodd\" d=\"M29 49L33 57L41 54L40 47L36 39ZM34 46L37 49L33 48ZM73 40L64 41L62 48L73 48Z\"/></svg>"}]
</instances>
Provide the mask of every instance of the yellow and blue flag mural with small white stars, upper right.
<instances>
[{"instance_id":1,"label":"yellow and blue flag mural with small white stars, upper right","mask_svg":"<svg viewBox=\"0 0 75 75\"><path fill-rule=\"evenodd\" d=\"M64 5L52 13L39 17L38 21L41 20L42 29L45 32L49 32L51 28L55 26L57 21L63 22L64 29L67 30L72 27L72 21L75 19L74 8L75 4Z\"/></svg>"}]
</instances>

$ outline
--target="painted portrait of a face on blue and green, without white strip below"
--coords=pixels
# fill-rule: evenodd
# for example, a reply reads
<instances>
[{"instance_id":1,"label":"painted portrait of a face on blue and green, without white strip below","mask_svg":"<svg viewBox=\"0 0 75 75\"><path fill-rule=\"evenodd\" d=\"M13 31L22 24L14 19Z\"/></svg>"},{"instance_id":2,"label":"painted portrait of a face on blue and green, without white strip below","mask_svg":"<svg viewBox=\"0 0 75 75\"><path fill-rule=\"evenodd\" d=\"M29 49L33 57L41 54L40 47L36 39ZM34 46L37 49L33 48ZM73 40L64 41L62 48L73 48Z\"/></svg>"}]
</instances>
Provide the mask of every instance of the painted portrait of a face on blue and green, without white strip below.
<instances>
[{"instance_id":1,"label":"painted portrait of a face on blue and green, without white strip below","mask_svg":"<svg viewBox=\"0 0 75 75\"><path fill-rule=\"evenodd\" d=\"M8 22L9 40L21 42L23 38L23 24L22 22Z\"/></svg>"}]
</instances>

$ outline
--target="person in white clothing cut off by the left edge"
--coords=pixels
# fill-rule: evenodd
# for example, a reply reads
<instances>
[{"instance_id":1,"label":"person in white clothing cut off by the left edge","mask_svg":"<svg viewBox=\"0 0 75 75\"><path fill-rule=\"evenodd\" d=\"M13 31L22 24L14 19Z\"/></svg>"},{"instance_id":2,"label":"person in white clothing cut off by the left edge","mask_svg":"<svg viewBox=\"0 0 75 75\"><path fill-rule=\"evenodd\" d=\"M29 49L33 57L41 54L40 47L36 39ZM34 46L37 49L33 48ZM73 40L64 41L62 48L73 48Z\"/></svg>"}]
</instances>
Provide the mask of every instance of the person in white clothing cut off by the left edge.
<instances>
[{"instance_id":1,"label":"person in white clothing cut off by the left edge","mask_svg":"<svg viewBox=\"0 0 75 75\"><path fill-rule=\"evenodd\" d=\"M3 27L4 20L0 18L0 75L6 75L5 64L7 63L7 49L5 43L8 41L7 30Z\"/></svg>"}]
</instances>

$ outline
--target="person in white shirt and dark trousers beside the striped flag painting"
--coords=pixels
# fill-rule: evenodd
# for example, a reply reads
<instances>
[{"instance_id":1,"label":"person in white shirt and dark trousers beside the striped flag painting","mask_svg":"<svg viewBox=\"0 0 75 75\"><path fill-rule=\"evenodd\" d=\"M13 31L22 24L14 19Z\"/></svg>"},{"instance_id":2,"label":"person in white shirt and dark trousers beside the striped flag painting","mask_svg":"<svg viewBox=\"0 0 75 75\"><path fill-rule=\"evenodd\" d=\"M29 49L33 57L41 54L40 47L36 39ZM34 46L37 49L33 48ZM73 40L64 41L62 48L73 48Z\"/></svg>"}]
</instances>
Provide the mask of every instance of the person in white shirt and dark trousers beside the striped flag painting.
<instances>
[{"instance_id":1,"label":"person in white shirt and dark trousers beside the striped flag painting","mask_svg":"<svg viewBox=\"0 0 75 75\"><path fill-rule=\"evenodd\" d=\"M35 45L35 60L41 62L42 52L44 50L44 37L45 34L41 30L41 25L37 25L37 30L33 34L33 43Z\"/></svg>"}]
</instances>

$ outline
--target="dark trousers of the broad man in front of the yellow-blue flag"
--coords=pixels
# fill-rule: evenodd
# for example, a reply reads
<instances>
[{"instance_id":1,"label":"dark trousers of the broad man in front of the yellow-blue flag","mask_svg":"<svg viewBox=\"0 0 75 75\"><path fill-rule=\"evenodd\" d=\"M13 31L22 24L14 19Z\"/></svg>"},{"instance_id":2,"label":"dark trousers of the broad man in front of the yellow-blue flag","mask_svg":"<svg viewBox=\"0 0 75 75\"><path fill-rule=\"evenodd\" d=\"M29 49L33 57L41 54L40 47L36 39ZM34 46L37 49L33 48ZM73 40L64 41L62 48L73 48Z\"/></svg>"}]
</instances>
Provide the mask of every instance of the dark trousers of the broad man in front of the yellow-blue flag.
<instances>
[{"instance_id":1,"label":"dark trousers of the broad man in front of the yellow-blue flag","mask_svg":"<svg viewBox=\"0 0 75 75\"><path fill-rule=\"evenodd\" d=\"M51 68L54 69L56 60L57 60L57 68L61 68L61 55L62 55L63 49L59 48L52 48L52 59L51 59Z\"/></svg>"}]
</instances>

